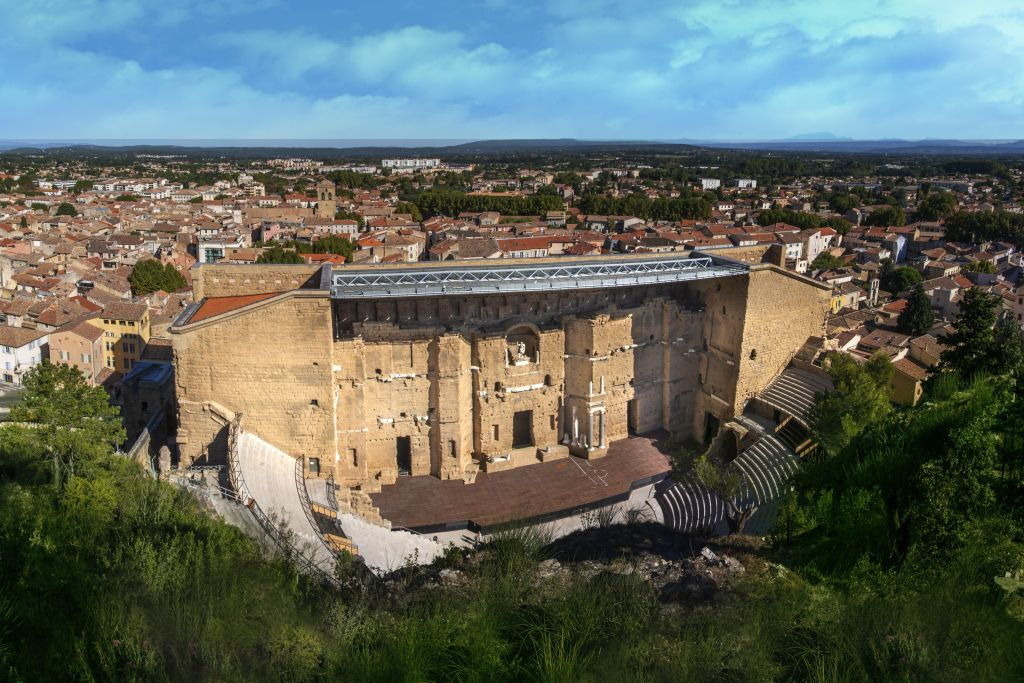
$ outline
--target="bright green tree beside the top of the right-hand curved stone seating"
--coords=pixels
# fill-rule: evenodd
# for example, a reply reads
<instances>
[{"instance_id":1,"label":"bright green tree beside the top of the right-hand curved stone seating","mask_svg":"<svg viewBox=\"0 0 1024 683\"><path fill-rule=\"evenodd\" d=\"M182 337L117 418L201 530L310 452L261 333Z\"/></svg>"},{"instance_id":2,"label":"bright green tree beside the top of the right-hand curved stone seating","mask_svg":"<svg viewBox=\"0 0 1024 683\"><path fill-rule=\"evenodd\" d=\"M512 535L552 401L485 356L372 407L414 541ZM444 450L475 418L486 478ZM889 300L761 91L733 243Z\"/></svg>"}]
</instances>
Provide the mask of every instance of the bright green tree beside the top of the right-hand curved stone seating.
<instances>
[{"instance_id":1,"label":"bright green tree beside the top of the right-hand curved stone seating","mask_svg":"<svg viewBox=\"0 0 1024 683\"><path fill-rule=\"evenodd\" d=\"M847 353L829 353L827 360L835 391L816 398L810 424L815 441L836 455L892 410L889 383L893 367L882 352L863 365Z\"/></svg>"}]
</instances>

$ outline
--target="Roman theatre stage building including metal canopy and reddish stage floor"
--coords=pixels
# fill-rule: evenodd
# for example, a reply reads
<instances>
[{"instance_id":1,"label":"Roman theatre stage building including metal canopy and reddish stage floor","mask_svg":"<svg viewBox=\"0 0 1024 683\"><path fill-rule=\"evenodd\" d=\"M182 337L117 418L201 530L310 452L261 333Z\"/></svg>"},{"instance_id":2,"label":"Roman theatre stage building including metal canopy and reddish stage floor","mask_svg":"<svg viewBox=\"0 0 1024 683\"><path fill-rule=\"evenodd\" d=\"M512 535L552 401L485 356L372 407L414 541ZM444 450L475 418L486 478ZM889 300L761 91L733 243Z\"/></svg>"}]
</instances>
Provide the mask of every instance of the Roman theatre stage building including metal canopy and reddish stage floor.
<instances>
[{"instance_id":1,"label":"Roman theatre stage building including metal canopy and reddish stage floor","mask_svg":"<svg viewBox=\"0 0 1024 683\"><path fill-rule=\"evenodd\" d=\"M234 428L419 529L622 496L665 476L657 439L709 440L823 334L828 288L779 258L198 266L171 327L180 462L227 464Z\"/></svg>"}]
</instances>

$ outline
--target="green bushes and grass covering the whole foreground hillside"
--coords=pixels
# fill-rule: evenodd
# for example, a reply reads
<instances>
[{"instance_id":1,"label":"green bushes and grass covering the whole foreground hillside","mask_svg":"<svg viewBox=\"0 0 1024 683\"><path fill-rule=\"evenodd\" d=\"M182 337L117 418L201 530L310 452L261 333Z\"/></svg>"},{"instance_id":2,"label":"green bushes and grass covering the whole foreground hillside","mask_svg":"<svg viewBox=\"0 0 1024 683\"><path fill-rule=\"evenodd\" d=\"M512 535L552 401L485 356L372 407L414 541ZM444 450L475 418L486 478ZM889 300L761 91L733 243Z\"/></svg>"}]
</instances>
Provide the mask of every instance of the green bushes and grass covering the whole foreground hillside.
<instances>
[{"instance_id":1,"label":"green bushes and grass covering the whole foreground hillside","mask_svg":"<svg viewBox=\"0 0 1024 683\"><path fill-rule=\"evenodd\" d=\"M92 430L108 407L97 390L76 408L87 390L40 379L30 402L79 416L50 431ZM991 581L1024 560L1019 522L987 516L1008 501L993 459L1015 405L976 387L881 420L799 480L792 543L764 551L799 570L751 553L695 606L635 572L539 579L544 527L495 533L452 587L403 590L408 568L380 593L330 589L113 455L110 434L83 438L54 488L44 430L0 427L0 667L27 681L1021 680L1024 624Z\"/></svg>"}]
</instances>

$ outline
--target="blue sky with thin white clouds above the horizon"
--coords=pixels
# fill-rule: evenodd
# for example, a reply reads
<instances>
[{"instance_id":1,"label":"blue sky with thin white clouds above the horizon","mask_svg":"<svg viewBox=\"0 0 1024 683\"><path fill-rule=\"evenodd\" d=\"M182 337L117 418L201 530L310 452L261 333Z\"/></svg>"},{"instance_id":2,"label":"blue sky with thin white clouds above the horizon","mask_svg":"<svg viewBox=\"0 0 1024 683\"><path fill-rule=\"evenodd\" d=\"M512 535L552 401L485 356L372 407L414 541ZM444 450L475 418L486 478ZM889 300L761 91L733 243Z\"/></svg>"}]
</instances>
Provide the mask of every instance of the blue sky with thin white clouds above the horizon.
<instances>
[{"instance_id":1,"label":"blue sky with thin white clouds above the horizon","mask_svg":"<svg viewBox=\"0 0 1024 683\"><path fill-rule=\"evenodd\" d=\"M0 0L0 138L1024 137L1024 0Z\"/></svg>"}]
</instances>

